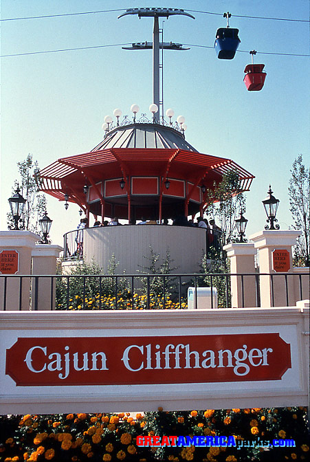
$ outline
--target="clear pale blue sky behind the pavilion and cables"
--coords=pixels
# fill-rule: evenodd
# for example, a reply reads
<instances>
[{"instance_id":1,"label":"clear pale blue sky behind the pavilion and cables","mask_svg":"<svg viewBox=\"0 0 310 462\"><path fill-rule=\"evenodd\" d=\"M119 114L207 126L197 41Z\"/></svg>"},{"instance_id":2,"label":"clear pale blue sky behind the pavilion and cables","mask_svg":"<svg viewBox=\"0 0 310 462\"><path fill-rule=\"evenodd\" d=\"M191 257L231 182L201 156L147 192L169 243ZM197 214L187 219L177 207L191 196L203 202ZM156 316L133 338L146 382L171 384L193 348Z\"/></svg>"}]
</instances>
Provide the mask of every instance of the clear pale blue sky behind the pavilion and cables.
<instances>
[{"instance_id":1,"label":"clear pale blue sky behind the pavilion and cables","mask_svg":"<svg viewBox=\"0 0 310 462\"><path fill-rule=\"evenodd\" d=\"M123 1L2 0L1 18L67 14L115 8L169 7L251 17L309 21L308 0ZM120 12L2 21L1 55L71 47L151 41L152 19ZM164 40L212 47L221 15L192 12L164 22ZM162 25L162 22L161 22ZM269 182L280 199L281 229L291 225L287 196L290 168L302 154L309 165L309 58L269 53L309 54L309 23L232 17L239 28L240 50L257 50L267 78L262 91L249 92L243 70L250 54L217 59L214 50L191 47L165 52L164 105L184 115L186 139L202 153L234 159L256 178L247 193L247 235L262 230ZM260 53L261 52L261 53ZM119 107L130 115L137 103L148 113L152 102L151 51L119 47L1 58L1 212L6 229L16 162L32 153L41 168L59 157L84 153L102 140L104 116ZM48 199L52 240L74 229L78 207Z\"/></svg>"}]
</instances>

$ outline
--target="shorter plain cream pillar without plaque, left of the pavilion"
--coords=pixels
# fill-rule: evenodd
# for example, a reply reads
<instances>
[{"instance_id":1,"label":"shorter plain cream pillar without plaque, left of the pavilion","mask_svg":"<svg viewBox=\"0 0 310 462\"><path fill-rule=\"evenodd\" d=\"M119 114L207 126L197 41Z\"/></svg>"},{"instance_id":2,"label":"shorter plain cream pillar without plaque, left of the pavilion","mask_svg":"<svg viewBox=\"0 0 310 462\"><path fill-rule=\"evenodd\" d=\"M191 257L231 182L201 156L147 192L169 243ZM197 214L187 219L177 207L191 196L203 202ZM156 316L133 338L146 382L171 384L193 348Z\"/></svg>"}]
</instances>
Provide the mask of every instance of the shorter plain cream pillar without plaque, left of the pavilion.
<instances>
[{"instance_id":1,"label":"shorter plain cream pillar without plaque, left of the pavilion","mask_svg":"<svg viewBox=\"0 0 310 462\"><path fill-rule=\"evenodd\" d=\"M57 259L63 248L60 245L37 244L32 250L32 309L55 309L56 278L36 277L56 274Z\"/></svg>"}]
</instances>

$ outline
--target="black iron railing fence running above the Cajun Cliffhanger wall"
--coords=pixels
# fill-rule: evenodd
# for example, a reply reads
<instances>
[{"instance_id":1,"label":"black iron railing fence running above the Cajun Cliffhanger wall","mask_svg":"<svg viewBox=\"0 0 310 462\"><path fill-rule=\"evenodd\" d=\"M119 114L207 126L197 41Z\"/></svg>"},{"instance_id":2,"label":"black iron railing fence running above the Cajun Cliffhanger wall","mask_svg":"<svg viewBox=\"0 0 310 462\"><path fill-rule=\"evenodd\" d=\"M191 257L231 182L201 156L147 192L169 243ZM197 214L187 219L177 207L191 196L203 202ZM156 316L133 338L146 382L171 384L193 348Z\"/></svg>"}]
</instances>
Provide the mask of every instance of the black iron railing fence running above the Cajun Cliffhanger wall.
<instances>
[{"instance_id":1,"label":"black iron railing fence running above the Cajun Cliffhanger wall","mask_svg":"<svg viewBox=\"0 0 310 462\"><path fill-rule=\"evenodd\" d=\"M199 307L201 297L212 309L230 308L236 285L239 307L247 306L248 287L260 307L261 281L269 283L272 307L278 306L279 283L281 296L285 294L282 306L289 306L292 296L295 300L309 297L309 273L0 275L0 310L187 309L188 305Z\"/></svg>"}]
</instances>

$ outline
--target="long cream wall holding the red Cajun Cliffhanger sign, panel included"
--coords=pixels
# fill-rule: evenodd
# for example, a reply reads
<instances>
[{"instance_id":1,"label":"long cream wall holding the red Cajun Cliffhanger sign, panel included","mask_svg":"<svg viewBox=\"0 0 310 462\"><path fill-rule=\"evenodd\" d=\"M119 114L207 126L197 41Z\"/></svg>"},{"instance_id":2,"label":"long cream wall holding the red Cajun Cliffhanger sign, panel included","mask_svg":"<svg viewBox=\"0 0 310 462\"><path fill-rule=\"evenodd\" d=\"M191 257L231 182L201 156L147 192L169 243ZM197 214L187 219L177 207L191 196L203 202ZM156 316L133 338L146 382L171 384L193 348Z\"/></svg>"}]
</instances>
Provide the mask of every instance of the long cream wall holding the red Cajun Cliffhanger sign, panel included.
<instances>
[{"instance_id":1,"label":"long cream wall holding the red Cajun Cliffhanger sign, panel included","mask_svg":"<svg viewBox=\"0 0 310 462\"><path fill-rule=\"evenodd\" d=\"M0 413L307 405L309 308L0 313Z\"/></svg>"}]
</instances>

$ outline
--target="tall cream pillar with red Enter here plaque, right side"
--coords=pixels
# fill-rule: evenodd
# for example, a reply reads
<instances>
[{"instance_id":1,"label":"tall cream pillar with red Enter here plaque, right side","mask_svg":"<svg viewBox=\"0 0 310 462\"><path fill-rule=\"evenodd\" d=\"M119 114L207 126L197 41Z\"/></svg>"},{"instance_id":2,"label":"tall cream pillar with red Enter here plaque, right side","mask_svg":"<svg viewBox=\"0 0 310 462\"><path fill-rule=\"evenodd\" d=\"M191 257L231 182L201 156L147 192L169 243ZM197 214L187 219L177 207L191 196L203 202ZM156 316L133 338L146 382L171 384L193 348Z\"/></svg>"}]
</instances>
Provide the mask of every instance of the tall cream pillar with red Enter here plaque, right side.
<instances>
[{"instance_id":1,"label":"tall cream pillar with red Enter here plaque, right side","mask_svg":"<svg viewBox=\"0 0 310 462\"><path fill-rule=\"evenodd\" d=\"M260 276L261 307L296 306L294 278L297 276L285 276L285 274L293 273L291 247L296 244L296 239L300 234L302 233L297 230L266 230L249 236L258 250L259 272L272 274L272 277ZM288 252L285 271L282 271L280 265L277 265L274 260L275 250L284 251L283 261Z\"/></svg>"}]
</instances>

